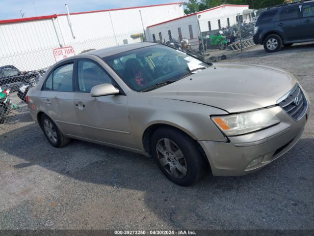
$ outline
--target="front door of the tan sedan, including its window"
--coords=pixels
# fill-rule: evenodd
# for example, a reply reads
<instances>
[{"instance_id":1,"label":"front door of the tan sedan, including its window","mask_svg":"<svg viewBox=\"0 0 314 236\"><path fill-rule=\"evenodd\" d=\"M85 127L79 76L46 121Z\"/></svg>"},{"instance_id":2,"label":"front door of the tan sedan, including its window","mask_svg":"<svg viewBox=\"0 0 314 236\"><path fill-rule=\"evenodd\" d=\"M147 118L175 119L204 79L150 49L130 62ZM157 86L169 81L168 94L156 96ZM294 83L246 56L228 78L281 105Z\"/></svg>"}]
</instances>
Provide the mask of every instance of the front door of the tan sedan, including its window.
<instances>
[{"instance_id":1,"label":"front door of the tan sedan, including its window","mask_svg":"<svg viewBox=\"0 0 314 236\"><path fill-rule=\"evenodd\" d=\"M133 147L126 95L91 97L100 84L117 86L105 69L90 59L78 60L78 91L74 103L84 137L109 144Z\"/></svg>"}]
</instances>

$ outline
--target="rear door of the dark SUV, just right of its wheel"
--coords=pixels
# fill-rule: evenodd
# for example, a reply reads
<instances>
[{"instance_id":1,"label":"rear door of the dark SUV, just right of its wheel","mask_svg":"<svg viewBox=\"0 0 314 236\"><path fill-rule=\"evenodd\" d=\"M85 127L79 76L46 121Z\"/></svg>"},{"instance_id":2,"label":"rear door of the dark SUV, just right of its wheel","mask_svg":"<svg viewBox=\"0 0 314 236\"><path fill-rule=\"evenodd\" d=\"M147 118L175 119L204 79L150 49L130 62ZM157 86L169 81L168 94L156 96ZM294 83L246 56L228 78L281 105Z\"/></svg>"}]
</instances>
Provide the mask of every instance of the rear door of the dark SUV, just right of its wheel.
<instances>
[{"instance_id":1,"label":"rear door of the dark SUV, just right of its wheel","mask_svg":"<svg viewBox=\"0 0 314 236\"><path fill-rule=\"evenodd\" d=\"M279 14L279 21L276 24L284 32L284 43L300 39L300 8L290 6L282 9Z\"/></svg>"}]
</instances>

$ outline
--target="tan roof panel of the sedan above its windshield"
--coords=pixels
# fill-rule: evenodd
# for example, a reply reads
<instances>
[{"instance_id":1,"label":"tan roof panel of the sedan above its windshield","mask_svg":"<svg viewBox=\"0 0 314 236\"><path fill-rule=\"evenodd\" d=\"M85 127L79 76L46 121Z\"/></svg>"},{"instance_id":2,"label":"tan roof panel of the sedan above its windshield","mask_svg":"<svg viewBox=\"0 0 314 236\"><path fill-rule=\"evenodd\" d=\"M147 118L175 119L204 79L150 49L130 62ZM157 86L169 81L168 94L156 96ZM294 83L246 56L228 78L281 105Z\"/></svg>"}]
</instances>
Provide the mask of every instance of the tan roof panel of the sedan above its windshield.
<instances>
[{"instance_id":1,"label":"tan roof panel of the sedan above its windshield","mask_svg":"<svg viewBox=\"0 0 314 236\"><path fill-rule=\"evenodd\" d=\"M148 43L148 42L124 44L124 45L119 45L119 46L114 46L114 47L90 51L90 52L84 53L84 55L95 55L95 56L98 56L100 58L104 58L104 57L108 57L111 55L130 51L133 49L143 48L143 47L148 47L148 46L153 46L153 45L158 45L158 44L157 43Z\"/></svg>"}]
</instances>

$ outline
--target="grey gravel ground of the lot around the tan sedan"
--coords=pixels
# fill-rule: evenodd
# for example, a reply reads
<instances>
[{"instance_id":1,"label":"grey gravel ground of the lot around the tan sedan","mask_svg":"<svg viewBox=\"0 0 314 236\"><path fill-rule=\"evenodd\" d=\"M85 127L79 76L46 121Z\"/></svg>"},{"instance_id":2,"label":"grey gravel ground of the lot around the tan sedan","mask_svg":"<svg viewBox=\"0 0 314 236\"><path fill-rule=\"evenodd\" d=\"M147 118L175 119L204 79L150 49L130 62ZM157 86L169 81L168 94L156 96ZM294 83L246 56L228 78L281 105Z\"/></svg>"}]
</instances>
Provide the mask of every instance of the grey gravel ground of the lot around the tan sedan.
<instances>
[{"instance_id":1,"label":"grey gravel ground of the lot around the tan sedan","mask_svg":"<svg viewBox=\"0 0 314 236\"><path fill-rule=\"evenodd\" d=\"M246 51L226 62L288 70L313 111L314 44ZM299 143L261 171L209 174L191 187L131 152L75 140L52 148L23 122L0 136L0 229L314 229L313 116Z\"/></svg>"}]
</instances>

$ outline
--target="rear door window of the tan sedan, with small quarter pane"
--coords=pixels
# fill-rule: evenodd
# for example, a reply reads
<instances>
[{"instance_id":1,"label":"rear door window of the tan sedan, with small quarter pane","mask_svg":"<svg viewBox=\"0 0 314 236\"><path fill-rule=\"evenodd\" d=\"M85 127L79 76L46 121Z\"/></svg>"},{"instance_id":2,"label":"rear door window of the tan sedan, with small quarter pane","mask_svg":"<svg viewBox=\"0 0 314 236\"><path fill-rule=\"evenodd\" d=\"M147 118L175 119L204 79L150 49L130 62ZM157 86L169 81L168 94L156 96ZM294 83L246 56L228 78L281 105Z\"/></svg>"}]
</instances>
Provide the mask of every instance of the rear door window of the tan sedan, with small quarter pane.
<instances>
[{"instance_id":1,"label":"rear door window of the tan sedan, with small quarter pane","mask_svg":"<svg viewBox=\"0 0 314 236\"><path fill-rule=\"evenodd\" d=\"M72 91L73 63L56 68L47 78L43 89L55 91Z\"/></svg>"}]
</instances>

